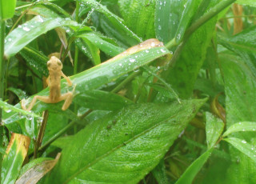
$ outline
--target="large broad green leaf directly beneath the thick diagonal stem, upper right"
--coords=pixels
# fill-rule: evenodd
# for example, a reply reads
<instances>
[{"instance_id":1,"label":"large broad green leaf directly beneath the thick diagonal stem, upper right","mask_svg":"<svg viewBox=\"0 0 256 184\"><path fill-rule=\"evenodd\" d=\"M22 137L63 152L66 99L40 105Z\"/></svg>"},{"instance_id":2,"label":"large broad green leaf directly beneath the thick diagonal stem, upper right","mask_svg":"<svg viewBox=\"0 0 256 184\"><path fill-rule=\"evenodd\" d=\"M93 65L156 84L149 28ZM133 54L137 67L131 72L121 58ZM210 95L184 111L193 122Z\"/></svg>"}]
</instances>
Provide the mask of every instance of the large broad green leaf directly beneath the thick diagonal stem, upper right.
<instances>
[{"instance_id":1,"label":"large broad green leaf directly beneath the thick diagonal stem, upper right","mask_svg":"<svg viewBox=\"0 0 256 184\"><path fill-rule=\"evenodd\" d=\"M210 7L218 0L210 1ZM212 18L191 35L173 69L167 71L166 82L170 83L179 97L189 98L202 62L206 58L207 46L213 36L217 18ZM184 27L185 29L185 27Z\"/></svg>"}]
</instances>

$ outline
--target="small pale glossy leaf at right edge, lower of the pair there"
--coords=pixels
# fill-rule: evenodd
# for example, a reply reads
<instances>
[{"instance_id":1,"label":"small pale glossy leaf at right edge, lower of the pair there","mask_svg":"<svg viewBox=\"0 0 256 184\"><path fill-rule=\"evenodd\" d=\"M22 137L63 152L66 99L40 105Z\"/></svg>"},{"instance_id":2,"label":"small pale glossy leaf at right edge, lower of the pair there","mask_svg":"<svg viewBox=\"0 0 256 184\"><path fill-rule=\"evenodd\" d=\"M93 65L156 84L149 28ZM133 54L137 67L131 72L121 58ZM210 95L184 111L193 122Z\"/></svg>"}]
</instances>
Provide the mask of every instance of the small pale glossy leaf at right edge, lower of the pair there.
<instances>
[{"instance_id":1,"label":"small pale glossy leaf at right edge, lower of the pair there","mask_svg":"<svg viewBox=\"0 0 256 184\"><path fill-rule=\"evenodd\" d=\"M242 154L246 154L254 162L256 162L256 148L250 145L246 140L240 138L223 138L224 141L229 142L236 149L240 150ZM255 164L255 163L254 163Z\"/></svg>"}]
</instances>

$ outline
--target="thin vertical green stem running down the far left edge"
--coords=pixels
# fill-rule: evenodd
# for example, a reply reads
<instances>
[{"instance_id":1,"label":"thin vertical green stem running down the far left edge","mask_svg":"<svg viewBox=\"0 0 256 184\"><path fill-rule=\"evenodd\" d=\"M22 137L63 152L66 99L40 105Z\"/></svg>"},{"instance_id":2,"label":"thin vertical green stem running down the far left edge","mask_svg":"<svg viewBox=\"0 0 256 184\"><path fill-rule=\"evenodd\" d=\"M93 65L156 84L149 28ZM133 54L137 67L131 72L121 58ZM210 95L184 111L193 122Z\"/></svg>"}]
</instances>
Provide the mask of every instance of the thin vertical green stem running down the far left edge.
<instances>
[{"instance_id":1,"label":"thin vertical green stem running down the far left edge","mask_svg":"<svg viewBox=\"0 0 256 184\"><path fill-rule=\"evenodd\" d=\"M2 13L2 12L1 12ZM0 19L0 99L4 100L4 44L5 44L5 34L6 34L6 23L4 20ZM2 109L0 109L0 122L2 122ZM0 127L0 146L2 146L2 134L3 126ZM2 154L0 154L0 174L2 171ZM1 176L0 176L1 182Z\"/></svg>"}]
</instances>

